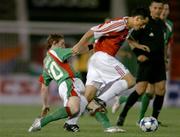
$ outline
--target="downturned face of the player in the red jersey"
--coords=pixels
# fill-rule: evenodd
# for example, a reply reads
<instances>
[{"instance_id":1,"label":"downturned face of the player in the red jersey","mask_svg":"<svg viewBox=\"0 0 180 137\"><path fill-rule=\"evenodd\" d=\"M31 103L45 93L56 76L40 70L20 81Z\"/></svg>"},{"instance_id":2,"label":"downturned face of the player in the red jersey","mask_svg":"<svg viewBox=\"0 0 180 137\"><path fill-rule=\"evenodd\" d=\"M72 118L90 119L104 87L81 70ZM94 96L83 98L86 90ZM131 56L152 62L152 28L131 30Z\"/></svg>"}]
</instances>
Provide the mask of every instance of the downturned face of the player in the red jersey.
<instances>
[{"instance_id":1,"label":"downturned face of the player in the red jersey","mask_svg":"<svg viewBox=\"0 0 180 137\"><path fill-rule=\"evenodd\" d=\"M139 30L145 27L145 25L148 23L149 19L143 18L142 16L136 16L134 17L134 29Z\"/></svg>"}]
</instances>

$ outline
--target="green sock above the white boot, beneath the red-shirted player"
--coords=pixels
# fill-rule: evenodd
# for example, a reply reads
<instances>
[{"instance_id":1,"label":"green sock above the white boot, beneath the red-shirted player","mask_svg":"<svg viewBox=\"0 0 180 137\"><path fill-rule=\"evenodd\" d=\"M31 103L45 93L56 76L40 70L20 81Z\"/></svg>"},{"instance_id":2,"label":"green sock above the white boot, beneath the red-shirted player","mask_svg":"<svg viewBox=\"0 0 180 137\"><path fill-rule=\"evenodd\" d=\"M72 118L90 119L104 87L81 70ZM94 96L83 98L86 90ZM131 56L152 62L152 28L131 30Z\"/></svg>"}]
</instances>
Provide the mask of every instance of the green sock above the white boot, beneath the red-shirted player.
<instances>
[{"instance_id":1,"label":"green sock above the white boot, beneath the red-shirted player","mask_svg":"<svg viewBox=\"0 0 180 137\"><path fill-rule=\"evenodd\" d=\"M101 123L103 128L108 128L111 126L109 118L106 113L96 112L95 114L96 120Z\"/></svg>"}]
</instances>

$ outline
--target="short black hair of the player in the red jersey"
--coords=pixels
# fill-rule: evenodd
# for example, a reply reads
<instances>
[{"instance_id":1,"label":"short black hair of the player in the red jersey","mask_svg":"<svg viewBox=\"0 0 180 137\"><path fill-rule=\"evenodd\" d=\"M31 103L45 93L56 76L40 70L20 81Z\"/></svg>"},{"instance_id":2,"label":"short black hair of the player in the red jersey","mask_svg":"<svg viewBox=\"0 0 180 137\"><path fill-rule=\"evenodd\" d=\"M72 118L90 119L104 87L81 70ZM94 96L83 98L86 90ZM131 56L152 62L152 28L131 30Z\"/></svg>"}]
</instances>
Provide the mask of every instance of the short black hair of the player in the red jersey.
<instances>
[{"instance_id":1,"label":"short black hair of the player in the red jersey","mask_svg":"<svg viewBox=\"0 0 180 137\"><path fill-rule=\"evenodd\" d=\"M143 18L146 18L150 16L150 12L147 8L138 7L131 12L131 16L142 16Z\"/></svg>"}]
</instances>

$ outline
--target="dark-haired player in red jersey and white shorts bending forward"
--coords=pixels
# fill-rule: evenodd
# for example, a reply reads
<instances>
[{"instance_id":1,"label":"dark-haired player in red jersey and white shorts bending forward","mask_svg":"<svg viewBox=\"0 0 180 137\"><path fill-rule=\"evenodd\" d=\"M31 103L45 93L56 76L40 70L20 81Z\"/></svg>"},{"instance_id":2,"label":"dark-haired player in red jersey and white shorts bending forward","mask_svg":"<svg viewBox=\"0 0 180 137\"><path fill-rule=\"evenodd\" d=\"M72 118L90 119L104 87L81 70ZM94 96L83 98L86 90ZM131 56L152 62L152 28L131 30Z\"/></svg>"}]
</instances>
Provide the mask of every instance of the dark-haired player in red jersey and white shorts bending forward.
<instances>
[{"instance_id":1,"label":"dark-haired player in red jersey and white shorts bending forward","mask_svg":"<svg viewBox=\"0 0 180 137\"><path fill-rule=\"evenodd\" d=\"M115 59L115 55L126 40L129 29L143 28L148 22L148 17L149 12L146 9L138 8L130 17L108 20L92 27L74 46L74 52L81 53L87 50L89 40L95 38L95 53L89 59L85 90L88 102L94 101L95 96L98 96L102 102L107 102L134 85L134 77L122 63ZM147 50L146 46L137 48ZM98 92L104 91L103 88L107 88L107 90L103 93ZM97 119L101 118L99 121L104 127L109 126L108 119L103 115L103 113L95 113ZM104 118L102 119L102 117Z\"/></svg>"}]
</instances>

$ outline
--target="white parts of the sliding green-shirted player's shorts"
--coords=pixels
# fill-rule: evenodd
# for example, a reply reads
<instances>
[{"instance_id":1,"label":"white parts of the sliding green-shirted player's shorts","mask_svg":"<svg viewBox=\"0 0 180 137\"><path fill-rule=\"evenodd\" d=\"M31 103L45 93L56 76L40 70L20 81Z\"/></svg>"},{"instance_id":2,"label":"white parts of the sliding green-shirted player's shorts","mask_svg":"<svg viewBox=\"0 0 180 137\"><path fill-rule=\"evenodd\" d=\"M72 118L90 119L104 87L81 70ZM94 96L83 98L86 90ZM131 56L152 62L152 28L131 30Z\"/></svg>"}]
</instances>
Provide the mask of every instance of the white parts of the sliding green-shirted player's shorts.
<instances>
[{"instance_id":1,"label":"white parts of the sliding green-shirted player's shorts","mask_svg":"<svg viewBox=\"0 0 180 137\"><path fill-rule=\"evenodd\" d=\"M80 96L80 93L85 91L84 84L79 78L73 78L73 80L73 90L76 92L78 96ZM68 85L65 81L59 85L58 91L59 96L63 100L63 104L66 107L68 103Z\"/></svg>"}]
</instances>

